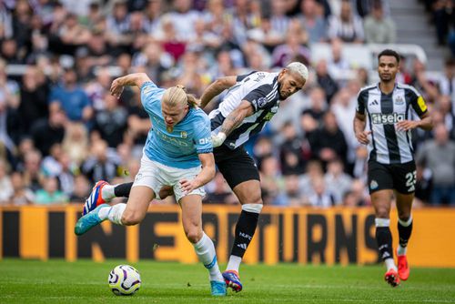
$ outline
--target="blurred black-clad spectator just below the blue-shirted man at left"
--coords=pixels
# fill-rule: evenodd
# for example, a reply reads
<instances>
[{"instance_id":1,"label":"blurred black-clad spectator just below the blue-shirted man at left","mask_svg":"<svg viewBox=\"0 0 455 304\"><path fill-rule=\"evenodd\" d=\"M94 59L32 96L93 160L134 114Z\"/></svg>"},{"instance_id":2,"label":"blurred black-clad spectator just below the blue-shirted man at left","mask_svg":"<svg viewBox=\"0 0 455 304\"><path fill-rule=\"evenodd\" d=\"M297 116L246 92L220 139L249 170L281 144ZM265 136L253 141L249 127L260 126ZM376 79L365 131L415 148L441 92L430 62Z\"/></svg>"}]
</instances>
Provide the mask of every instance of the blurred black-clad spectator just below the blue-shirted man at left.
<instances>
[{"instance_id":1,"label":"blurred black-clad spectator just below the blue-shirted man at left","mask_svg":"<svg viewBox=\"0 0 455 304\"><path fill-rule=\"evenodd\" d=\"M50 147L60 144L65 136L66 115L59 109L49 113L49 118L41 118L32 126L35 147L43 156L49 154Z\"/></svg>"}]
</instances>

